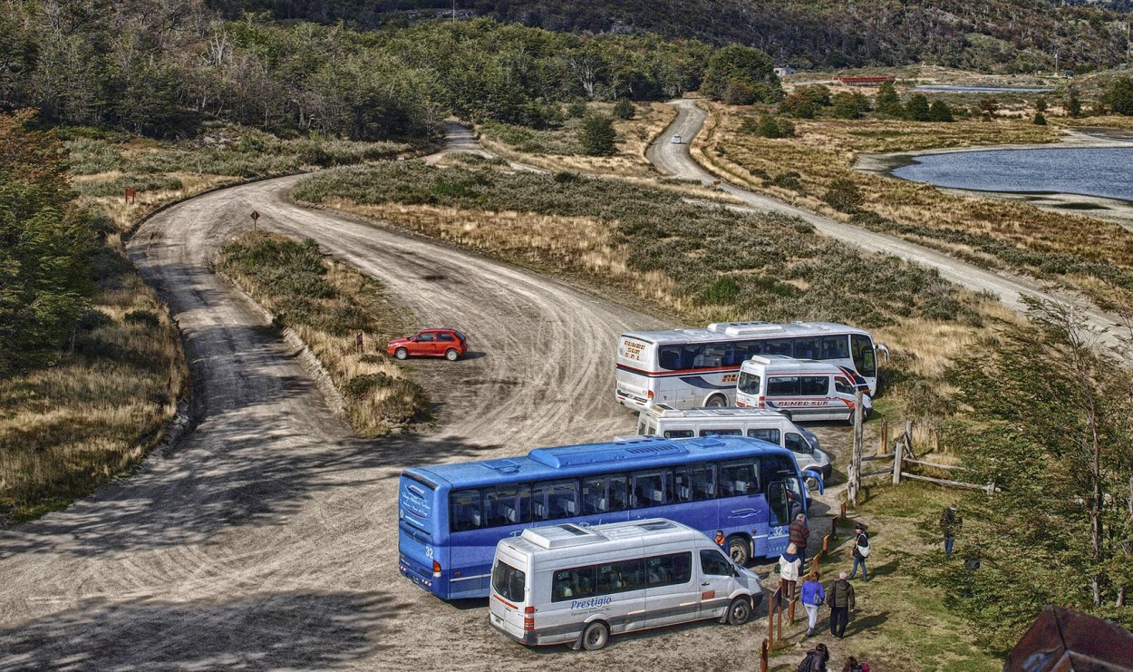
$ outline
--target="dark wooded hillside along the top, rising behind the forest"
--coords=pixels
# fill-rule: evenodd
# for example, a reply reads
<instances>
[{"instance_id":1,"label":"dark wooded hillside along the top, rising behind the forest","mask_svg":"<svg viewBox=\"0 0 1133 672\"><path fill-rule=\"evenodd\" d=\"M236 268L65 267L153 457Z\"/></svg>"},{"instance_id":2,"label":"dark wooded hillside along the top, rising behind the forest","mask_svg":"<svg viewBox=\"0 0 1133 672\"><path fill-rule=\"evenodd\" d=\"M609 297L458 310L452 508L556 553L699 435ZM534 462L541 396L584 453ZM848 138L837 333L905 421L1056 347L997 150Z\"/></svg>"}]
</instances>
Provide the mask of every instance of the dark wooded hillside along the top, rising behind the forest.
<instances>
[{"instance_id":1,"label":"dark wooded hillside along the top, rising behind the forest","mask_svg":"<svg viewBox=\"0 0 1133 672\"><path fill-rule=\"evenodd\" d=\"M443 0L208 0L229 17L344 20L360 28L448 16ZM1126 60L1127 2L1047 0L458 0L460 18L491 16L561 32L649 32L757 46L796 68L927 62L982 71L1089 71Z\"/></svg>"}]
</instances>

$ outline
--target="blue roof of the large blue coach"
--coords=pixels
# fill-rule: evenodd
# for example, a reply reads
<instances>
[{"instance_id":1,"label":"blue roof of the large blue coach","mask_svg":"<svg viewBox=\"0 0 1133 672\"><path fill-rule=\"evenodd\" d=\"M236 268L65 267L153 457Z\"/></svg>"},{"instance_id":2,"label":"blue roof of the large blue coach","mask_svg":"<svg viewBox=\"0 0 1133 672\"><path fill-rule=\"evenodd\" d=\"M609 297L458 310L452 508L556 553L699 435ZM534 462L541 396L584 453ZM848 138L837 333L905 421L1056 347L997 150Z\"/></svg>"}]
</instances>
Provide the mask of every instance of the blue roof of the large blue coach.
<instances>
[{"instance_id":1,"label":"blue roof of the large blue coach","mask_svg":"<svg viewBox=\"0 0 1133 672\"><path fill-rule=\"evenodd\" d=\"M555 476L566 478L619 469L664 467L747 454L791 456L791 452L774 443L746 436L642 436L628 441L536 448L526 457L411 467L406 471L436 485L448 483L458 487L474 487Z\"/></svg>"}]
</instances>

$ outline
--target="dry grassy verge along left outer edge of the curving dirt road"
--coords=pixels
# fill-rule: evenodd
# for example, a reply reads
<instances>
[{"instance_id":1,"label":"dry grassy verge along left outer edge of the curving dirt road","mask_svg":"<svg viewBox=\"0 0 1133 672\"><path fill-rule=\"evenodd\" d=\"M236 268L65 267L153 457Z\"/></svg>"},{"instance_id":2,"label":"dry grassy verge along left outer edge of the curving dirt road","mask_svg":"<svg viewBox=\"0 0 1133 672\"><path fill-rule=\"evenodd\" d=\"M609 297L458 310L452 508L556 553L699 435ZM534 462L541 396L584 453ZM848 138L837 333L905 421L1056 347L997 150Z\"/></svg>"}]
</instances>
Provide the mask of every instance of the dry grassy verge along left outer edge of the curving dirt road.
<instances>
[{"instance_id":1,"label":"dry grassy verge along left outer edge of the curving dirt road","mask_svg":"<svg viewBox=\"0 0 1133 672\"><path fill-rule=\"evenodd\" d=\"M355 163L409 147L280 139L215 126L157 142L90 128L60 131L79 203L103 213L92 311L58 364L0 380L0 525L66 508L130 474L163 439L188 369L168 309L126 260L122 235L161 205L239 179ZM137 192L126 203L125 189ZM363 383L356 383L363 385Z\"/></svg>"}]
</instances>

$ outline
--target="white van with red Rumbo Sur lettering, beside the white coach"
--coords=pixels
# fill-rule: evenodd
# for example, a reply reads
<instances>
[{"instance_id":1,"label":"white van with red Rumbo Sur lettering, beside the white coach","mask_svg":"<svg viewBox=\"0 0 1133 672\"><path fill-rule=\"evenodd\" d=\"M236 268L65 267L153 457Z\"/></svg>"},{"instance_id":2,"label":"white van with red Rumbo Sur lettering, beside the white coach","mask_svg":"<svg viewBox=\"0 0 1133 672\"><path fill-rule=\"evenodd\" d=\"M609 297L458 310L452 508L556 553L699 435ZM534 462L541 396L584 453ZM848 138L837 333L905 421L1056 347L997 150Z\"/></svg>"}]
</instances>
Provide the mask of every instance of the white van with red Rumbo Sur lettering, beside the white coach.
<instances>
[{"instance_id":1,"label":"white van with red Rumbo Sur lettering, beside the white coach","mask_svg":"<svg viewBox=\"0 0 1133 672\"><path fill-rule=\"evenodd\" d=\"M866 392L862 411L869 416L869 385L853 371L828 361L757 355L740 366L735 405L769 408L796 422L852 423L858 390Z\"/></svg>"}]
</instances>

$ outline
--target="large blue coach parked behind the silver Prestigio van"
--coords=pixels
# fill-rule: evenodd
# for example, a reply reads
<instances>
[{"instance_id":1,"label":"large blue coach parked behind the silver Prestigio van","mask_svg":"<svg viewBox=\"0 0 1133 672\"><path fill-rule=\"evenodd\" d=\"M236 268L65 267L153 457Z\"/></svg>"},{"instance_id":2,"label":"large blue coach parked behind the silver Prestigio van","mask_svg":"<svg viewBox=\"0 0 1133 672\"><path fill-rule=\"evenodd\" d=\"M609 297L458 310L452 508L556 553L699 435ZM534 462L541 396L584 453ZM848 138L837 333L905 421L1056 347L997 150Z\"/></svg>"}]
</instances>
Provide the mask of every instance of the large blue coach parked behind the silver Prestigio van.
<instances>
[{"instance_id":1,"label":"large blue coach parked behind the silver Prestigio van","mask_svg":"<svg viewBox=\"0 0 1133 672\"><path fill-rule=\"evenodd\" d=\"M746 564L786 548L791 516L808 505L802 483L789 450L743 436L642 436L414 467L398 488L398 564L442 599L487 597L500 539L551 522L641 518L721 531Z\"/></svg>"}]
</instances>

